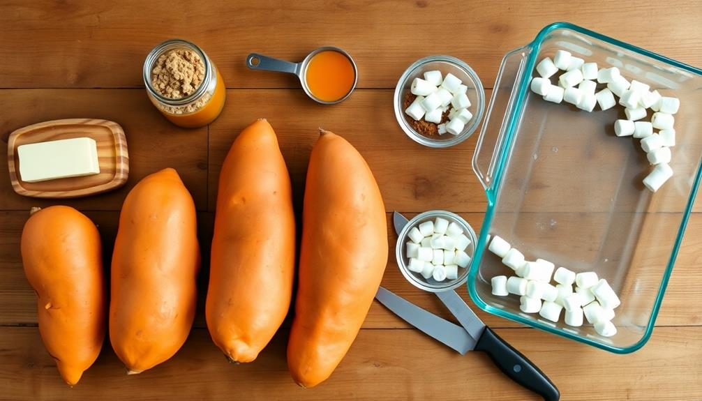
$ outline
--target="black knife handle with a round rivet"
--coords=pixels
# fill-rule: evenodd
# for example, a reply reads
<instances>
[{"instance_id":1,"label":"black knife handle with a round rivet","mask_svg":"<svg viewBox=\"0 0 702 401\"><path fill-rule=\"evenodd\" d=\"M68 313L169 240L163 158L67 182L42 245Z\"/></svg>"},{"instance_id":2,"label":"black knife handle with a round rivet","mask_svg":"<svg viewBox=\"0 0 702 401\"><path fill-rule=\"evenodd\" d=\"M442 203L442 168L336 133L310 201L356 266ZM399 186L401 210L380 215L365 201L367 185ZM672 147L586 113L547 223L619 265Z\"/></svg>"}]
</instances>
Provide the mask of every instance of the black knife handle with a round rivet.
<instances>
[{"instance_id":1,"label":"black knife handle with a round rivet","mask_svg":"<svg viewBox=\"0 0 702 401\"><path fill-rule=\"evenodd\" d=\"M480 335L475 351L483 351L500 370L524 388L541 395L544 400L558 401L561 393L558 388L522 353L485 327Z\"/></svg>"}]
</instances>

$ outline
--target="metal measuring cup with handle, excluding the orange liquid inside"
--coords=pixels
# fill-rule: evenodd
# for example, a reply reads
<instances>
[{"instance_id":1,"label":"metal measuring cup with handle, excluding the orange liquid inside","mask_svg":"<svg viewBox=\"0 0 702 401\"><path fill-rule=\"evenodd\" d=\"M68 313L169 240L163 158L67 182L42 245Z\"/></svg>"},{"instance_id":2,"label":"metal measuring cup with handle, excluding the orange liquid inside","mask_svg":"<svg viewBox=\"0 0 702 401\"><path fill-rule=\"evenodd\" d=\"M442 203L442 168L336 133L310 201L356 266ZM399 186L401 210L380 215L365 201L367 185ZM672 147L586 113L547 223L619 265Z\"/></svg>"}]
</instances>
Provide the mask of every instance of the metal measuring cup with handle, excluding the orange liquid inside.
<instances>
[{"instance_id":1,"label":"metal measuring cup with handle, excluding the orange liquid inside","mask_svg":"<svg viewBox=\"0 0 702 401\"><path fill-rule=\"evenodd\" d=\"M344 97L341 97L338 100L334 100L333 102L326 102L325 100L320 100L317 99L317 97L314 97L312 92L310 91L310 88L307 86L307 79L306 79L306 74L307 74L307 66L310 64L310 60L312 60L312 57L314 55L317 55L317 53L322 53L323 51L326 50L331 50L335 51L337 53L340 53L344 55L349 61L351 62L351 65L353 67L353 74L354 74L354 79L353 79L353 85L351 86L350 90ZM246 65L250 69L259 69L263 71L274 71L274 72L286 72L288 74L294 74L298 76L298 79L300 80L300 84L303 87L303 90L305 90L305 93L307 93L307 96L310 97L310 99L314 100L315 102L322 103L322 104L337 104L339 102L343 102L347 97L353 93L353 91L356 88L356 83L358 82L358 69L356 68L356 62L353 60L353 58L349 55L349 53L346 53L344 50L334 47L334 46L322 46L321 48L317 48L315 50L312 50L312 53L308 54L307 57L305 57L305 60L302 60L301 62L289 62L286 60L279 60L277 58L273 57L268 57L267 55L261 55L258 53L251 53L248 56L246 56Z\"/></svg>"}]
</instances>

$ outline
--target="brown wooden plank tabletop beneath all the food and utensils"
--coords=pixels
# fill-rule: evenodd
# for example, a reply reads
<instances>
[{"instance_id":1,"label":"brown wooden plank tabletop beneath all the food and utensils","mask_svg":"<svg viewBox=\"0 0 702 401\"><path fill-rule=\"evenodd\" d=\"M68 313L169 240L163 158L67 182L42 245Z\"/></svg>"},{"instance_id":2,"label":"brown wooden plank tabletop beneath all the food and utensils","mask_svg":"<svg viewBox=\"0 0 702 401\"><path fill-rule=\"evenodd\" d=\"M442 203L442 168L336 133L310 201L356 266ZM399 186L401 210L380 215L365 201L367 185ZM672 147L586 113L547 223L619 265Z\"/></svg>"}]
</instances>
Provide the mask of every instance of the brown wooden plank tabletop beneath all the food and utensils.
<instances>
[{"instance_id":1,"label":"brown wooden plank tabletop beneath all the food and utensils","mask_svg":"<svg viewBox=\"0 0 702 401\"><path fill-rule=\"evenodd\" d=\"M363 154L388 213L446 209L479 227L486 198L470 166L477 135L458 147L435 151L409 140L395 122L392 91L411 62L428 54L455 55L475 68L489 95L508 50L531 41L544 25L567 20L702 65L702 6L696 1L630 6L595 0L581 6L540 0L229 3L0 2L0 153L6 152L8 134L16 128L93 117L124 127L131 160L124 188L63 202L16 195L7 166L0 163L0 399L536 400L485 355L458 355L379 304L373 304L331 379L318 388L303 390L291 380L284 352L286 328L256 362L234 366L212 344L201 311L190 339L163 365L127 376L108 341L81 382L69 388L39 338L35 297L20 261L22 225L31 206L72 205L99 224L109 257L129 189L150 172L176 168L199 210L205 259L202 306L220 164L241 128L265 116L278 132L298 210L305 166L322 126L343 135ZM227 83L225 110L209 127L176 128L147 100L141 80L145 55L173 37L204 48ZM301 60L326 44L349 51L359 67L358 90L338 106L308 100L292 76L251 72L244 65L252 51ZM653 337L641 351L614 355L478 315L536 362L557 383L563 400L700 400L702 204L695 211ZM390 230L388 226L394 245ZM383 285L448 317L435 297L406 283L392 256ZM461 293L468 299L465 289Z\"/></svg>"}]
</instances>

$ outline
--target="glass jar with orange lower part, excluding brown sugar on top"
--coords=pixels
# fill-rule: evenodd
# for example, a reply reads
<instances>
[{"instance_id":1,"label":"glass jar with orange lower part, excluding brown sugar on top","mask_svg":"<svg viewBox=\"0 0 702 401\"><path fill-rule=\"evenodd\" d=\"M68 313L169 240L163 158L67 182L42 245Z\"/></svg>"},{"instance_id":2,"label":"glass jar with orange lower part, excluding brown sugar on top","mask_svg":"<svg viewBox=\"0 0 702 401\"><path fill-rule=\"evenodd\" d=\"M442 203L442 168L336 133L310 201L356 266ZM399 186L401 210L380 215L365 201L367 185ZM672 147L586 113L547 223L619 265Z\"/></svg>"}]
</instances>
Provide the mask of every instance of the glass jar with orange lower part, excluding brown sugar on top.
<instances>
[{"instance_id":1,"label":"glass jar with orange lower part, excluding brown sugar on top","mask_svg":"<svg viewBox=\"0 0 702 401\"><path fill-rule=\"evenodd\" d=\"M171 50L191 50L204 63L204 76L199 86L185 97L166 97L154 87L152 74L159 57ZM156 46L144 62L144 84L149 99L171 123L185 128L199 128L215 121L225 102L225 83L215 64L201 48L181 39L171 39Z\"/></svg>"}]
</instances>

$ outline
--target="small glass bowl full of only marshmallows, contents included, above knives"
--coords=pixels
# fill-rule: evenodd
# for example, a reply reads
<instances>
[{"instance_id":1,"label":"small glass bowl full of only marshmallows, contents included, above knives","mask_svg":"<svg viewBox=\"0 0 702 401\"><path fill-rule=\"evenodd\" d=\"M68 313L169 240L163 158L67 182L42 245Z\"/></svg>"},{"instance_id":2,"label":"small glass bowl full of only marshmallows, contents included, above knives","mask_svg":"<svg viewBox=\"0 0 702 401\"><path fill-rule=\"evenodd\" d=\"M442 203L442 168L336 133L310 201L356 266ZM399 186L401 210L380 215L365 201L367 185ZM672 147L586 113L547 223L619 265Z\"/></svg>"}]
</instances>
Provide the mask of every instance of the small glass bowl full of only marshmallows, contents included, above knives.
<instances>
[{"instance_id":1,"label":"small glass bowl full of only marshmallows, contents included, above knives","mask_svg":"<svg viewBox=\"0 0 702 401\"><path fill-rule=\"evenodd\" d=\"M474 251L475 231L470 224L451 212L430 210L404 226L395 257L410 283L438 292L465 283Z\"/></svg>"}]
</instances>

